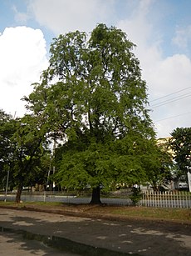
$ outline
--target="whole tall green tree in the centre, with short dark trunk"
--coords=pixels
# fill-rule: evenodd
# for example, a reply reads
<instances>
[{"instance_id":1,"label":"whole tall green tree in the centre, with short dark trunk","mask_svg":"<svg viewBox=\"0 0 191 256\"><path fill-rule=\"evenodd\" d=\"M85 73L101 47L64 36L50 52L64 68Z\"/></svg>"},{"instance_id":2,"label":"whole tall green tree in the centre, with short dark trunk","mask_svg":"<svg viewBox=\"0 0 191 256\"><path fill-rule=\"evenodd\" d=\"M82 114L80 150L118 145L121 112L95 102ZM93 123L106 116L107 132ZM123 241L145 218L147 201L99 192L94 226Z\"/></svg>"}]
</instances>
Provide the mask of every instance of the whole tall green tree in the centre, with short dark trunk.
<instances>
[{"instance_id":1,"label":"whole tall green tree in the centre, with short dark trunk","mask_svg":"<svg viewBox=\"0 0 191 256\"><path fill-rule=\"evenodd\" d=\"M91 185L92 203L100 203L100 184L145 177L138 152L154 129L134 47L120 29L105 24L90 36L60 35L42 83L25 98L27 108L46 120L49 136L62 140L57 182Z\"/></svg>"}]
</instances>

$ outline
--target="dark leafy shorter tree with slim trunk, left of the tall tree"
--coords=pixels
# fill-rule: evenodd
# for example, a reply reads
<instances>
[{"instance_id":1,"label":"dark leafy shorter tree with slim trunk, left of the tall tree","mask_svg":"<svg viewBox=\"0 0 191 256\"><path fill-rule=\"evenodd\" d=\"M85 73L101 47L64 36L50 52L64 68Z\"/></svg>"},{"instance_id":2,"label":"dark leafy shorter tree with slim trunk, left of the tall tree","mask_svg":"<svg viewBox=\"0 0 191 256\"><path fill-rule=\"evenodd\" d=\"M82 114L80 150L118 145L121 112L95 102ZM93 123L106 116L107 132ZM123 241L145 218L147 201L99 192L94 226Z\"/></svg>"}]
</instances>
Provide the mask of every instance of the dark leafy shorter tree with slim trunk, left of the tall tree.
<instances>
[{"instance_id":1,"label":"dark leafy shorter tree with slim trunk, left of the tall tree","mask_svg":"<svg viewBox=\"0 0 191 256\"><path fill-rule=\"evenodd\" d=\"M13 119L0 111L0 177L5 188L9 173L10 187L18 188L17 202L20 202L23 186L46 183L50 165L46 133L40 117L25 115Z\"/></svg>"}]
</instances>

